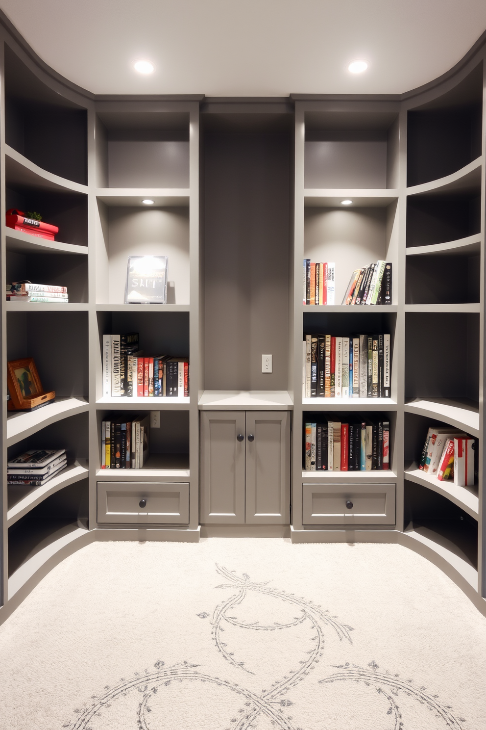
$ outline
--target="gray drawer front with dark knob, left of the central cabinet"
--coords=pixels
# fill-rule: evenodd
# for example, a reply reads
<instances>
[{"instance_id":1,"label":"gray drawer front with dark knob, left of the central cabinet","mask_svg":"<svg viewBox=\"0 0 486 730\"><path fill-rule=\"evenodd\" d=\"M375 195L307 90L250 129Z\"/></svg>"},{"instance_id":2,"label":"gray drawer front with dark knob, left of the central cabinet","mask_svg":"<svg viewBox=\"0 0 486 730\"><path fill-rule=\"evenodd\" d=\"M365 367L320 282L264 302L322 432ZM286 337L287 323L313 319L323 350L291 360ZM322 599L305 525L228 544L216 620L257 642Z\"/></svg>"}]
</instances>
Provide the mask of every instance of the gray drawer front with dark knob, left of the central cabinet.
<instances>
[{"instance_id":1,"label":"gray drawer front with dark knob, left of the central cabinet","mask_svg":"<svg viewBox=\"0 0 486 730\"><path fill-rule=\"evenodd\" d=\"M98 482L98 523L187 525L189 483Z\"/></svg>"}]
</instances>

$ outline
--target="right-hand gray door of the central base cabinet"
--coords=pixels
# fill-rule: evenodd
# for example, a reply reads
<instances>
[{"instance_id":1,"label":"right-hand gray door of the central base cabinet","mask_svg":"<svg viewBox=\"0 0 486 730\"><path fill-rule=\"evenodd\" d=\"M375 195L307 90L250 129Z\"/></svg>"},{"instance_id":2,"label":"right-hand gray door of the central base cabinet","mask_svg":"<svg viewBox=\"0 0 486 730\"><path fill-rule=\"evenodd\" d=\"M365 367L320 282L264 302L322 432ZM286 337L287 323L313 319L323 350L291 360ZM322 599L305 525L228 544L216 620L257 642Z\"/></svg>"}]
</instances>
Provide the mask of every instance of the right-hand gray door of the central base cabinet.
<instances>
[{"instance_id":1,"label":"right-hand gray door of the central base cabinet","mask_svg":"<svg viewBox=\"0 0 486 730\"><path fill-rule=\"evenodd\" d=\"M251 439L253 437L253 439ZM245 517L250 525L290 522L290 413L246 413Z\"/></svg>"}]
</instances>

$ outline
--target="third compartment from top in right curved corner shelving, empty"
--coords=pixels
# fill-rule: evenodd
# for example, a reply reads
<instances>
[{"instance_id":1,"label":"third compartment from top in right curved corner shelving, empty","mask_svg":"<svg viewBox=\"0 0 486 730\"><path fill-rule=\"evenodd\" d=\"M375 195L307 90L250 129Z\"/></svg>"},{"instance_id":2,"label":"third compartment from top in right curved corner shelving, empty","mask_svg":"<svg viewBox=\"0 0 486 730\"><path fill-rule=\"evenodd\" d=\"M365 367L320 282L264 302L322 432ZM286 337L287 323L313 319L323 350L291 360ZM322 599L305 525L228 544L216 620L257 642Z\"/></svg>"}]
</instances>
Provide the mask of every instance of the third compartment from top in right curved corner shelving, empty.
<instances>
[{"instance_id":1,"label":"third compartment from top in right curved corner shelving, empty","mask_svg":"<svg viewBox=\"0 0 486 730\"><path fill-rule=\"evenodd\" d=\"M480 293L479 253L407 256L406 304L472 304Z\"/></svg>"}]
</instances>

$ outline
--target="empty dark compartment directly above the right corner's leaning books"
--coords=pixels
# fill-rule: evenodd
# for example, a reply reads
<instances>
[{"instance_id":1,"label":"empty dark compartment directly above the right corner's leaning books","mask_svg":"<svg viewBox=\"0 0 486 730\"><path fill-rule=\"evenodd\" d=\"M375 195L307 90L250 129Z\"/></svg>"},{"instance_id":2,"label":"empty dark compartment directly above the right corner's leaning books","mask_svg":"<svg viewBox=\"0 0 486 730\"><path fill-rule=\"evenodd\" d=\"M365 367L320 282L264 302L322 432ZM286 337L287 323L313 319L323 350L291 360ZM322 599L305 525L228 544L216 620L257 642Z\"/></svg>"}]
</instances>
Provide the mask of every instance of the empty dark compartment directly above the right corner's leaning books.
<instances>
[{"instance_id":1,"label":"empty dark compartment directly above the right corner's leaning books","mask_svg":"<svg viewBox=\"0 0 486 730\"><path fill-rule=\"evenodd\" d=\"M426 353L426 365L424 365ZM405 400L479 399L479 314L405 315Z\"/></svg>"}]
</instances>

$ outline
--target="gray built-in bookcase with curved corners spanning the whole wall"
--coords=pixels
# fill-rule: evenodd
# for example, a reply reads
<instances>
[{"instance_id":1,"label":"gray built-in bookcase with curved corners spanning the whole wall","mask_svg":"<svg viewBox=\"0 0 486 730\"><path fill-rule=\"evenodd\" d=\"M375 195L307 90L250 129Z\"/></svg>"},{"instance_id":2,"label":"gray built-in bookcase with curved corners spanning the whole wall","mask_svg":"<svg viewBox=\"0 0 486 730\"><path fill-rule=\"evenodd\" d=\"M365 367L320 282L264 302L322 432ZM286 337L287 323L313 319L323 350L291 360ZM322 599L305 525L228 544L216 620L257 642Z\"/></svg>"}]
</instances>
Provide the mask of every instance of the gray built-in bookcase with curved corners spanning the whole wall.
<instances>
[{"instance_id":1,"label":"gray built-in bookcase with curved corners spanning the whole wall","mask_svg":"<svg viewBox=\"0 0 486 730\"><path fill-rule=\"evenodd\" d=\"M397 542L433 561L486 615L486 39L444 77L401 96L93 96L0 20L0 220L20 207L42 210L60 228L47 242L2 225L1 277L63 284L69 293L62 311L1 305L0 620L93 540L214 534ZM152 207L141 203L146 197ZM347 198L353 204L344 208ZM168 255L168 304L123 304L130 254ZM302 304L303 258L335 261L337 304ZM378 258L393 264L391 306L342 307L350 273ZM189 356L189 399L102 396L101 337L128 331L139 332L146 353ZM380 331L391 334L390 399L302 397L304 334ZM271 374L262 373L264 353L273 355ZM7 415L6 363L24 356L35 358L56 400ZM160 429L152 429L144 469L102 470L101 422L154 410ZM210 426L202 421L243 423L240 430L245 419L252 429L271 421L278 431L280 422L289 428L282 411L291 446L281 439L281 516L225 524L219 514L211 523L203 475L210 452L200 442ZM390 421L391 469L303 471L303 424L358 412ZM418 469L433 424L478 439L473 488ZM7 488L7 457L31 447L65 447L68 469L44 488ZM222 463L215 473L224 502L234 475L226 491ZM170 517L103 517L100 495L140 485ZM244 512L244 477L241 488ZM329 494L368 500L369 513L348 523L326 518ZM386 509L375 519L376 499Z\"/></svg>"}]
</instances>

